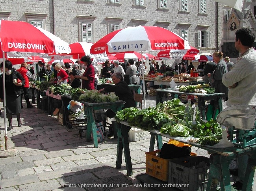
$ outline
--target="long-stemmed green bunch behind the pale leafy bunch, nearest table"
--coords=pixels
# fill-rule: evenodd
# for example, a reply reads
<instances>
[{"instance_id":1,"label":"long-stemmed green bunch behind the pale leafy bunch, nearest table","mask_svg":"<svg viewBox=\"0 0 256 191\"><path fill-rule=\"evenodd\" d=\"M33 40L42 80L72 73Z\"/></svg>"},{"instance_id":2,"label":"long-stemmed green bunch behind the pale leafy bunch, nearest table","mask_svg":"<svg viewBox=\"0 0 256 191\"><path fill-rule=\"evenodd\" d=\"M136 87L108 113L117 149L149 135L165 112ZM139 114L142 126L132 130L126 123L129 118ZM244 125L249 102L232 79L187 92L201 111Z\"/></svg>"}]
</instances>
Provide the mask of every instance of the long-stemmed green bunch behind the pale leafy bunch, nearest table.
<instances>
[{"instance_id":1,"label":"long-stemmed green bunch behind the pale leafy bunch, nearest table","mask_svg":"<svg viewBox=\"0 0 256 191\"><path fill-rule=\"evenodd\" d=\"M167 102L163 102L162 104L157 104L155 110L158 112L164 112L170 117L176 119L183 119L185 104L183 104L178 98L174 98Z\"/></svg>"}]
</instances>

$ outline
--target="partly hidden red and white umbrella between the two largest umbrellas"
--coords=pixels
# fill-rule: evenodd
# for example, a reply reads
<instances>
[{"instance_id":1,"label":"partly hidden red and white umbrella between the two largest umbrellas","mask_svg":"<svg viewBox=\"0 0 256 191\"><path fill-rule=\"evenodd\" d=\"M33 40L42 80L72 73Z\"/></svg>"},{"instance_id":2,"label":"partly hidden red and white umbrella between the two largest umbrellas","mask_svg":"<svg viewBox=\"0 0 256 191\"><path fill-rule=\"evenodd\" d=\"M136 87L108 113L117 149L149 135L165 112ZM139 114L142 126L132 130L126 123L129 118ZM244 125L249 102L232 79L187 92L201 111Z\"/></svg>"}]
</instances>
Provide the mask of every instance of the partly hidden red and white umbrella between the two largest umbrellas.
<instances>
[{"instance_id":1,"label":"partly hidden red and white umbrella between the two largest umbrellas","mask_svg":"<svg viewBox=\"0 0 256 191\"><path fill-rule=\"evenodd\" d=\"M82 56L91 56L93 58L93 55L90 54L90 49L93 43L90 42L74 42L69 44L71 53L65 54L65 55L72 55L73 59L80 59Z\"/></svg>"}]
</instances>

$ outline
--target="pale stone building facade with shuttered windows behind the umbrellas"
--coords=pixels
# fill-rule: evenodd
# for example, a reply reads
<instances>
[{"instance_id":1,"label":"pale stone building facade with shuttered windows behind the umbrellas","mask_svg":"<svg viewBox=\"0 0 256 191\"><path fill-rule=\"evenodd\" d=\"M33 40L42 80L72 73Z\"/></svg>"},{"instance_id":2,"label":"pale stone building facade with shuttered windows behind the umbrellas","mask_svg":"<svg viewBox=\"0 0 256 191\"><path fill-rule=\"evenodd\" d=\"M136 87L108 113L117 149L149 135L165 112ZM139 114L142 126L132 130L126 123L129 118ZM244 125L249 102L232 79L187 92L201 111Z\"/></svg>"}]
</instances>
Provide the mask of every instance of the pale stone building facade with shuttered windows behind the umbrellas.
<instances>
[{"instance_id":1,"label":"pale stone building facade with shuttered windows behind the umbrellas","mask_svg":"<svg viewBox=\"0 0 256 191\"><path fill-rule=\"evenodd\" d=\"M94 43L115 29L148 25L167 28L187 39L189 44L199 48L201 53L213 53L219 50L223 37L225 7L210 0L207 0L207 3L206 0L0 0L0 2L0 18L29 22L50 31L68 43L83 41ZM157 54L157 52L151 53ZM177 61L167 62L173 64Z\"/></svg>"}]
</instances>

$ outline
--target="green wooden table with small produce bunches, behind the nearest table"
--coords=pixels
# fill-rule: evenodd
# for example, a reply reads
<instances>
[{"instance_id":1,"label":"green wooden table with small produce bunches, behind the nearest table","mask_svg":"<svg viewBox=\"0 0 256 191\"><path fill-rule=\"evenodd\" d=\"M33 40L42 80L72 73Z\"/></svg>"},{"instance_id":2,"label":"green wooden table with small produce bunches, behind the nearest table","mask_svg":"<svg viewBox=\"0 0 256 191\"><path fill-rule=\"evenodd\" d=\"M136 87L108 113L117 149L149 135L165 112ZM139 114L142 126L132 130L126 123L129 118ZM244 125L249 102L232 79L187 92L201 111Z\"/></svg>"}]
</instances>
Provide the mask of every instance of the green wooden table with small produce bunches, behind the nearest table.
<instances>
[{"instance_id":1,"label":"green wooden table with small produce bunches, behind the nearest table","mask_svg":"<svg viewBox=\"0 0 256 191\"><path fill-rule=\"evenodd\" d=\"M174 88L156 89L156 92L157 92L156 104L163 103L163 95L165 93L197 96L198 97L198 108L200 109L202 120L206 120L206 116L205 116L205 109L206 109L205 101L206 100L215 100L212 118L213 118L213 116L215 116L217 109L219 109L219 112L222 111L222 98L223 98L224 93L212 93L212 94L186 93L186 92L176 91Z\"/></svg>"}]
</instances>

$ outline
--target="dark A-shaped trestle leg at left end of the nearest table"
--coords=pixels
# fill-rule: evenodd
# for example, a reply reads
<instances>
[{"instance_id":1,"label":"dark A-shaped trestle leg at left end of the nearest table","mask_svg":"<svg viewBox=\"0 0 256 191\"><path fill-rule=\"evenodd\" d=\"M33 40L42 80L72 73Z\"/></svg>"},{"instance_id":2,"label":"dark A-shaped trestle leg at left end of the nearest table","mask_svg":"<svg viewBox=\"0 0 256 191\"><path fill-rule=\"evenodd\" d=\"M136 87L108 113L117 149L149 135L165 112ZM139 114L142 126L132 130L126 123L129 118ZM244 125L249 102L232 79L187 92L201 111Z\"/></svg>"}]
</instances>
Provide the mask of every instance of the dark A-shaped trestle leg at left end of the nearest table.
<instances>
[{"instance_id":1,"label":"dark A-shaped trestle leg at left end of the nearest table","mask_svg":"<svg viewBox=\"0 0 256 191\"><path fill-rule=\"evenodd\" d=\"M117 166L116 168L121 168L122 165L122 148L124 148L124 158L127 169L127 175L132 175L132 159L129 148L128 132L130 131L130 126L125 126L123 124L118 124L118 142L117 142Z\"/></svg>"}]
</instances>

